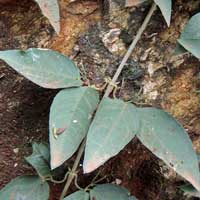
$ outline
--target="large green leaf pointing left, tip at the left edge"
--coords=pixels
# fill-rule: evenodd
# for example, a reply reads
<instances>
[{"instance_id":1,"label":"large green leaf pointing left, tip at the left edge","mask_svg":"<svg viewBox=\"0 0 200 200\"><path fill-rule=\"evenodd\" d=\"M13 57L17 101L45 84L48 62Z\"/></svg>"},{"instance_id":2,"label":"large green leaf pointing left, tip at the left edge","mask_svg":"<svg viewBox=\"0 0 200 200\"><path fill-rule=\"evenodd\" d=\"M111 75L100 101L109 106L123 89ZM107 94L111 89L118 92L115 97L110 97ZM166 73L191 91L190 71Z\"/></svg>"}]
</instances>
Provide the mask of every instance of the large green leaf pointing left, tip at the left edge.
<instances>
[{"instance_id":1,"label":"large green leaf pointing left, tip at the left edge","mask_svg":"<svg viewBox=\"0 0 200 200\"><path fill-rule=\"evenodd\" d=\"M82 84L75 64L64 55L49 49L0 51L0 59L44 88L67 88Z\"/></svg>"}]
</instances>

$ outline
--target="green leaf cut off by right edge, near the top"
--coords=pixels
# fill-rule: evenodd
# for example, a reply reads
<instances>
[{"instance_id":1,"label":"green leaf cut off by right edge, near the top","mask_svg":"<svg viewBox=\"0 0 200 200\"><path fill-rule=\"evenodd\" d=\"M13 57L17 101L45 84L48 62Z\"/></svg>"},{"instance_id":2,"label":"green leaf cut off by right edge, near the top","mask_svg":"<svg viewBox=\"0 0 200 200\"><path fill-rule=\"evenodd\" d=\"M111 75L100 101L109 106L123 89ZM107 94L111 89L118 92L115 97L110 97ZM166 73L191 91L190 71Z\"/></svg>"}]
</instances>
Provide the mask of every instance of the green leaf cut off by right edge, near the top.
<instances>
[{"instance_id":1,"label":"green leaf cut off by right edge, near the top","mask_svg":"<svg viewBox=\"0 0 200 200\"><path fill-rule=\"evenodd\" d=\"M195 57L200 58L200 13L189 20L178 42Z\"/></svg>"}]
</instances>

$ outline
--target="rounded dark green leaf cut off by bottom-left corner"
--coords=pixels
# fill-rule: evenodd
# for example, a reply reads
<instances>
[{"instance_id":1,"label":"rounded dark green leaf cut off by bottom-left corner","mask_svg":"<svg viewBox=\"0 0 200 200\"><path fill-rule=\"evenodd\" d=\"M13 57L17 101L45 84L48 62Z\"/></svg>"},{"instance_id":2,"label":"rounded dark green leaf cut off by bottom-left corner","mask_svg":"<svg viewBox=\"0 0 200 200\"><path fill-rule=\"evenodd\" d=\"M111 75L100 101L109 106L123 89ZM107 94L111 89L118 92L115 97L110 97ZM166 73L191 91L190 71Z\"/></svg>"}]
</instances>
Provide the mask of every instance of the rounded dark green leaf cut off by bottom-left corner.
<instances>
[{"instance_id":1,"label":"rounded dark green leaf cut off by bottom-left corner","mask_svg":"<svg viewBox=\"0 0 200 200\"><path fill-rule=\"evenodd\" d=\"M0 191L1 200L48 200L49 185L38 176L22 176Z\"/></svg>"}]
</instances>

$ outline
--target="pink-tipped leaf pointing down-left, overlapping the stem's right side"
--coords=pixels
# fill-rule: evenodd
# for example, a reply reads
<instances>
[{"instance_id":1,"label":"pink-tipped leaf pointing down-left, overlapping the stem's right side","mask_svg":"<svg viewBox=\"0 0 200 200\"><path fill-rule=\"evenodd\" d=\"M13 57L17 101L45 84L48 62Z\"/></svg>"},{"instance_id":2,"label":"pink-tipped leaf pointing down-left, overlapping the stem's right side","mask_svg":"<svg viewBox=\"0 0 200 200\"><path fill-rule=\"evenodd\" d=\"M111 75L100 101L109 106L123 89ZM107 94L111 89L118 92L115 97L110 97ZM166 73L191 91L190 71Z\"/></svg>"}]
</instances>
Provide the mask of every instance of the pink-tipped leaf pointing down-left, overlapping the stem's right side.
<instances>
[{"instance_id":1,"label":"pink-tipped leaf pointing down-left, overlapping the stem's right side","mask_svg":"<svg viewBox=\"0 0 200 200\"><path fill-rule=\"evenodd\" d=\"M87 135L84 172L95 170L118 154L133 139L138 126L136 108L132 104L104 98Z\"/></svg>"}]
</instances>

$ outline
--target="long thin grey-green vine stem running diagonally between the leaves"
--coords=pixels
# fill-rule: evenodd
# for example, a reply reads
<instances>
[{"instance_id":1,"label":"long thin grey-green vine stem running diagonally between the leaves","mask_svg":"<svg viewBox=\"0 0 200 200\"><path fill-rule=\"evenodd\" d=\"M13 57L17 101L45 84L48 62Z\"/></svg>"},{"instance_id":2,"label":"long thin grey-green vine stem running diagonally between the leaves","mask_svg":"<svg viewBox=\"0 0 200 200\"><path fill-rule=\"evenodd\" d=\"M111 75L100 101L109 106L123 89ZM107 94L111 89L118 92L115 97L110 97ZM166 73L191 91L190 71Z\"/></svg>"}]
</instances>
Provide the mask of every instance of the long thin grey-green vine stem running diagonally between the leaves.
<instances>
[{"instance_id":1,"label":"long thin grey-green vine stem running diagonally between the leaves","mask_svg":"<svg viewBox=\"0 0 200 200\"><path fill-rule=\"evenodd\" d=\"M110 95L110 93L112 92L112 90L113 90L113 85L116 83L116 81L117 81L117 79L118 79L118 77L119 77L119 75L120 75L122 69L124 68L124 66L125 66L125 64L126 64L126 62L127 62L127 60L128 60L128 58L131 56L131 54L132 54L132 52L133 52L133 50L134 50L134 48L135 48L135 46L136 46L138 40L141 38L141 35L142 35L142 33L144 32L145 28L147 27L148 22L150 21L151 16L153 15L153 13L154 13L155 10L156 10L156 4L153 3L153 5L151 6L151 8L150 8L150 10L149 10L149 12L148 12L148 14L147 14L147 16L146 16L146 18L145 18L143 24L142 24L142 26L141 26L140 29L138 30L138 33L137 33L136 37L134 38L134 40L133 40L131 46L129 47L129 49L128 49L128 51L127 51L127 53L125 54L124 58L122 59L122 62L121 62L121 64L119 65L119 67L118 67L118 69L117 69L115 75L113 76L113 79L112 79L112 81L111 81L112 84L109 84L109 85L107 86L107 89L106 89L106 92L105 92L105 94L104 94L104 97L108 97L108 96ZM71 182L73 181L74 177L76 176L76 175L75 175L75 172L76 172L76 169L78 168L79 162L80 162L81 157L82 157L82 154L83 154L83 152L84 152L85 144L86 144L86 138L84 139L84 141L82 142L82 144L81 144L81 146L80 146L80 148L79 148L79 151L78 151L76 160L75 160L74 165L73 165L73 168L72 168L72 173L69 173L67 182L66 182L65 187L64 187L64 189L63 189L63 191L62 191L62 194L61 194L61 196L60 196L60 200L63 200L63 198L65 197L65 195L66 195L67 192L68 192L68 189L69 189L69 187L70 187L70 185L71 185Z\"/></svg>"}]
</instances>

